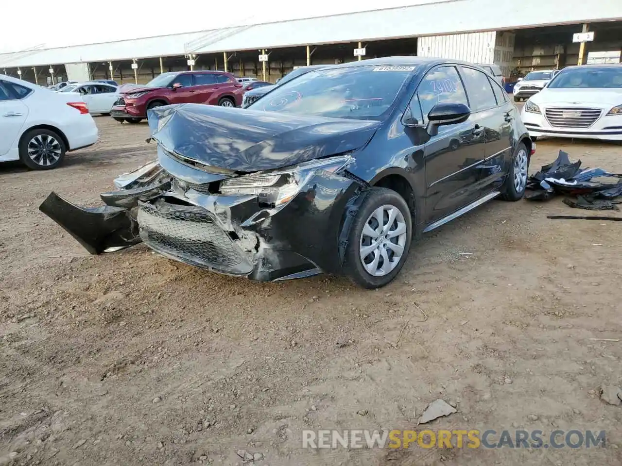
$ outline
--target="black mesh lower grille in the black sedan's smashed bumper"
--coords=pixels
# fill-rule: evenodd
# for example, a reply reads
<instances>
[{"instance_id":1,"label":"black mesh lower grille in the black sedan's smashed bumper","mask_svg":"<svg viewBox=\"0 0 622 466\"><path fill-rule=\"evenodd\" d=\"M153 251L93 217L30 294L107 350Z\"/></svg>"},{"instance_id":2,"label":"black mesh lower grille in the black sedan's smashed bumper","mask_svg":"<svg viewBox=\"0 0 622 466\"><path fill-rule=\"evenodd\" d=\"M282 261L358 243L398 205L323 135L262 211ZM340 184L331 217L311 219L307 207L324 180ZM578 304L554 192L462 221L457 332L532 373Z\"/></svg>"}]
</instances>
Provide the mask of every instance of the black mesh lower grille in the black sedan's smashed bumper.
<instances>
[{"instance_id":1,"label":"black mesh lower grille in the black sedan's smashed bumper","mask_svg":"<svg viewBox=\"0 0 622 466\"><path fill-rule=\"evenodd\" d=\"M139 203L137 220L141 239L162 254L225 270L242 262L230 237L202 208Z\"/></svg>"}]
</instances>

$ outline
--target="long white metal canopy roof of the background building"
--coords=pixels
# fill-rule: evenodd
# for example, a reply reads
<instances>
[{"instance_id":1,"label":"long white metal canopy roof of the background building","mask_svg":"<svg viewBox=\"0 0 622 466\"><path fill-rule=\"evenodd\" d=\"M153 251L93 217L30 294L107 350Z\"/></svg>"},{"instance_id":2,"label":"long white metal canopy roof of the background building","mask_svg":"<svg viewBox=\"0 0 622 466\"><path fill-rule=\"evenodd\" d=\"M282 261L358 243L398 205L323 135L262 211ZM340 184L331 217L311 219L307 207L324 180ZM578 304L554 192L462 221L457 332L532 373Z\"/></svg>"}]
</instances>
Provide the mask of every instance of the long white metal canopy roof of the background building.
<instances>
[{"instance_id":1,"label":"long white metal canopy roof of the background building","mask_svg":"<svg viewBox=\"0 0 622 466\"><path fill-rule=\"evenodd\" d=\"M622 19L622 6L618 1L442 0L186 34L4 53L0 54L0 68L179 56L185 54L185 43L202 40L207 45L193 50L193 53L399 39L618 19Z\"/></svg>"}]
</instances>

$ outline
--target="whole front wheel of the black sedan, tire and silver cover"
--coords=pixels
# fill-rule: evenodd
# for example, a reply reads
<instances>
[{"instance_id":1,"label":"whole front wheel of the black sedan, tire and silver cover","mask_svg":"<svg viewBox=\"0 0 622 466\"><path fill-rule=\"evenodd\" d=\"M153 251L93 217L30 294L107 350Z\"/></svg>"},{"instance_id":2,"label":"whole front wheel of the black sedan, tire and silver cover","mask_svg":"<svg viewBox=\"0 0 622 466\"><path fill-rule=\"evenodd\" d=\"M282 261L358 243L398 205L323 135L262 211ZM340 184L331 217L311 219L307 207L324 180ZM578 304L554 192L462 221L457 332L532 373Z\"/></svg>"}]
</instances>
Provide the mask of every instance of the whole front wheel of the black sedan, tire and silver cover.
<instances>
[{"instance_id":1,"label":"whole front wheel of the black sedan, tire and silver cover","mask_svg":"<svg viewBox=\"0 0 622 466\"><path fill-rule=\"evenodd\" d=\"M343 273L358 286L371 290L388 285L397 276L406 262L412 239L411 211L404 198L388 188L371 188L364 194L365 198L348 234L348 247L343 262ZM382 209L382 210L380 210ZM388 225L389 212L394 212L394 221ZM396 232L392 238L376 234L380 222L376 214L382 213L383 231ZM367 234L374 232L373 234ZM388 242L394 244L388 247ZM397 253L400 252L396 258ZM368 255L361 255L368 251ZM383 254L384 253L384 254ZM389 260L389 267L386 261ZM384 270L383 270L384 269ZM370 273L373 271L374 273Z\"/></svg>"}]
</instances>

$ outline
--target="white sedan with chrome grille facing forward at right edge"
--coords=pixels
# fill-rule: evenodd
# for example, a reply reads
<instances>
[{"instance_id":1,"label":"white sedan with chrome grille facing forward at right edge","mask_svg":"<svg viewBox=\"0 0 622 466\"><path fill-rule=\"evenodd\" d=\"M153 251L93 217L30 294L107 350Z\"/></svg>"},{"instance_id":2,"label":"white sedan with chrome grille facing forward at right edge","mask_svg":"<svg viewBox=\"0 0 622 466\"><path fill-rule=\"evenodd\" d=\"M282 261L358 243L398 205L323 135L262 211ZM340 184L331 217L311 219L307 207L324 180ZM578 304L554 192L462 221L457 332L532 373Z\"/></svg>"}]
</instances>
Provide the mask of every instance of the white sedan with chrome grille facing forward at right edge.
<instances>
[{"instance_id":1,"label":"white sedan with chrome grille facing forward at right edge","mask_svg":"<svg viewBox=\"0 0 622 466\"><path fill-rule=\"evenodd\" d=\"M521 118L534 139L622 140L622 64L565 68L529 98Z\"/></svg>"}]
</instances>

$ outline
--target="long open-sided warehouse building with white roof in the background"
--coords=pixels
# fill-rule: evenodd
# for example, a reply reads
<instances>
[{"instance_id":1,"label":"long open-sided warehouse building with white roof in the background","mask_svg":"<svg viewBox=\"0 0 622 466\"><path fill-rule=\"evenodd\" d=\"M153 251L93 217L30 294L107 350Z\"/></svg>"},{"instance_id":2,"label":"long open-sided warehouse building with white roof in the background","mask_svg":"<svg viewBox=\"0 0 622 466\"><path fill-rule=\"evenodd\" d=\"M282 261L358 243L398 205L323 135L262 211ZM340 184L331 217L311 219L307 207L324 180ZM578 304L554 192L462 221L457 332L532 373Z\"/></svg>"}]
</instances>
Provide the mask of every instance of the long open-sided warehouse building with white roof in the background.
<instances>
[{"instance_id":1,"label":"long open-sided warehouse building with white roof in the background","mask_svg":"<svg viewBox=\"0 0 622 466\"><path fill-rule=\"evenodd\" d=\"M504 76L620 61L622 3L440 0L293 21L0 54L0 72L62 80L146 83L164 71L225 70L276 81L295 66L391 55L496 63ZM573 42L573 35L583 34Z\"/></svg>"}]
</instances>

